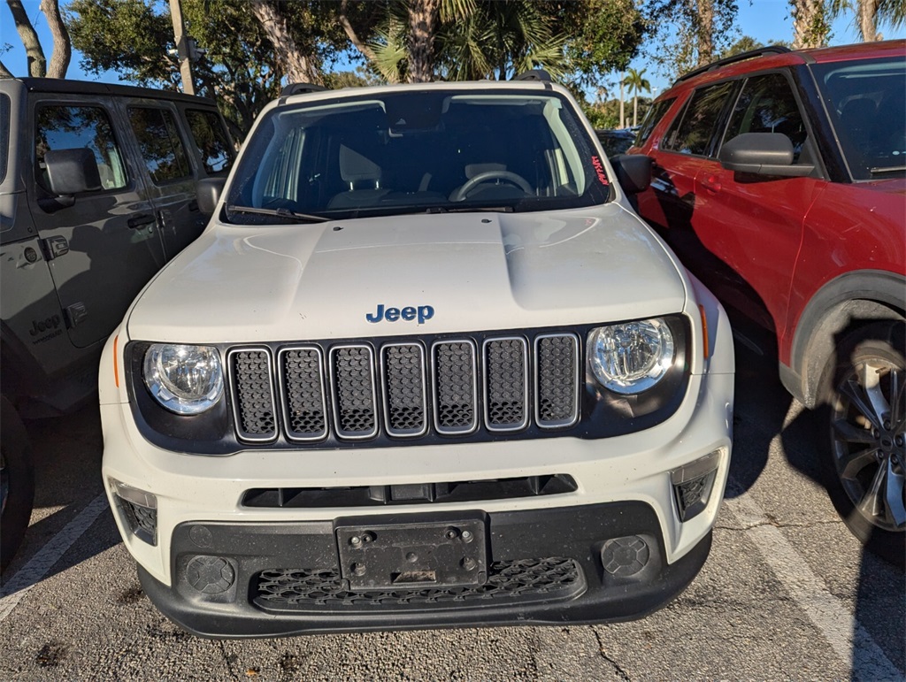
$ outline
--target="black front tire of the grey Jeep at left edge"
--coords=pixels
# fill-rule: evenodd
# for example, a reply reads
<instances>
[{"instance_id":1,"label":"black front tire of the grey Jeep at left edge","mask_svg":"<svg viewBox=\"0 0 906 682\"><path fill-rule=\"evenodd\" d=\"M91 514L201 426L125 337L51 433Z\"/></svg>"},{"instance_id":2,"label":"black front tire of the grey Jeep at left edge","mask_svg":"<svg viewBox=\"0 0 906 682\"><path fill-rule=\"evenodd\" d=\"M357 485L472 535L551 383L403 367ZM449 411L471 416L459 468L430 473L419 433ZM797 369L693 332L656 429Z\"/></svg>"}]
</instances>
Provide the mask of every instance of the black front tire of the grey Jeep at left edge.
<instances>
[{"instance_id":1,"label":"black front tire of the grey Jeep at left edge","mask_svg":"<svg viewBox=\"0 0 906 682\"><path fill-rule=\"evenodd\" d=\"M32 516L34 466L28 434L5 398L0 403L0 419L0 570L5 570Z\"/></svg>"}]
</instances>

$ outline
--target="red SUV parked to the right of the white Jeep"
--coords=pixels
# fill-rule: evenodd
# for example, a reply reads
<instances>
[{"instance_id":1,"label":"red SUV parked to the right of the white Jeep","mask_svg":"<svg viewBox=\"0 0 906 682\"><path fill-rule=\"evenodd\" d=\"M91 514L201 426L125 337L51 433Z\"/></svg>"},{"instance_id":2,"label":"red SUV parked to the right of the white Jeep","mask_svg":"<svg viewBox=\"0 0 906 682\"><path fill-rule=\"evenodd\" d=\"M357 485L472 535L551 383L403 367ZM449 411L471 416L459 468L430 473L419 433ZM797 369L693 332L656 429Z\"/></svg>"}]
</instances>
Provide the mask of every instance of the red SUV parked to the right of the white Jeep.
<instances>
[{"instance_id":1,"label":"red SUV parked to the right of the white Jeep","mask_svg":"<svg viewBox=\"0 0 906 682\"><path fill-rule=\"evenodd\" d=\"M731 311L776 338L820 410L828 489L863 542L906 538L906 41L764 48L679 79L631 153L639 212Z\"/></svg>"}]
</instances>

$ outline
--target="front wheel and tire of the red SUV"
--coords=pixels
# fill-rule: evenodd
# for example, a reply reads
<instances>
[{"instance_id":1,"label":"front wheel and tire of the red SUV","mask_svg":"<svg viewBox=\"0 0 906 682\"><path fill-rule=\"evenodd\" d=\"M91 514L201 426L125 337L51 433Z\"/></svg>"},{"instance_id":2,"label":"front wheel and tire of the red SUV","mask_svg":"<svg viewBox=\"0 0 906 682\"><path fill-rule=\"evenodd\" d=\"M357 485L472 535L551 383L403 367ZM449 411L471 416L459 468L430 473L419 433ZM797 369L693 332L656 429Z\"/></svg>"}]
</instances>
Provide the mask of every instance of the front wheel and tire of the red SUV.
<instances>
[{"instance_id":1,"label":"front wheel and tire of the red SUV","mask_svg":"<svg viewBox=\"0 0 906 682\"><path fill-rule=\"evenodd\" d=\"M906 325L849 333L825 370L823 468L837 513L871 552L906 563Z\"/></svg>"}]
</instances>

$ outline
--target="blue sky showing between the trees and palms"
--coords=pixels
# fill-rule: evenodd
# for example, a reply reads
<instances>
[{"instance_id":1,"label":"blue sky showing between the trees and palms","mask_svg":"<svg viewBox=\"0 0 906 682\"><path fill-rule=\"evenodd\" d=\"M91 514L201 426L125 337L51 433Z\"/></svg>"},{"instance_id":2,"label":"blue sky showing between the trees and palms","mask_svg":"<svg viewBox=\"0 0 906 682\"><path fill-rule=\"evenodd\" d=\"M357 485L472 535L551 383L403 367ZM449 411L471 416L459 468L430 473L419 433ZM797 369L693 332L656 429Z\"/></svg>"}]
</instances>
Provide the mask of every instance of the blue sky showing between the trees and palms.
<instances>
[{"instance_id":1,"label":"blue sky showing between the trees and palms","mask_svg":"<svg viewBox=\"0 0 906 682\"><path fill-rule=\"evenodd\" d=\"M739 14L737 25L741 34L750 35L760 43L770 44L776 41L790 42L793 39L793 22L789 16L788 0L738 0ZM65 5L66 0L61 2ZM45 56L48 61L51 57L53 40L50 30L47 28L47 22L44 15L39 11L38 5L40 0L23 0L23 5L32 17L34 27L38 32L41 43L44 48ZM843 45L858 41L858 32L852 24L852 16L844 16L834 22L833 35L831 37L832 45ZM889 26L882 26L882 34L886 38L903 38L906 37L906 30L899 29L893 31ZM9 49L6 48L9 45ZM202 45L204 47L204 45ZM10 14L9 7L5 3L0 5L0 60L14 76L27 75L28 67L25 62L25 50L19 35L15 32L13 17ZM82 72L80 66L81 54L77 51L72 53L72 62L69 66L67 78L80 80L100 80L103 82L122 82L119 76L114 72L103 74L100 78ZM664 90L670 83L660 76L653 65L649 64L644 56L637 58L631 64L632 68L641 70L647 68L645 77L651 82L651 94L657 95ZM618 78L614 74L613 82Z\"/></svg>"}]
</instances>

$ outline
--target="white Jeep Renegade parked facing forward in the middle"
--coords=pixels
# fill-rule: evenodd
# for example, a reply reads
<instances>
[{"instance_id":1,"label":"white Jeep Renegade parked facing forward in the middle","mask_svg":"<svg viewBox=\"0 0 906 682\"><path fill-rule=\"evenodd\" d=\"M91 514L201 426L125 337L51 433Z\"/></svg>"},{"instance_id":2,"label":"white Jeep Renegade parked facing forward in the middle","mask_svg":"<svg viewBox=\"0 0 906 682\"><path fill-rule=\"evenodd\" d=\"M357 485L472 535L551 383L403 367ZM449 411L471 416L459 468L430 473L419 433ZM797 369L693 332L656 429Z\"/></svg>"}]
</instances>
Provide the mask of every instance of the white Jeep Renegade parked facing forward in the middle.
<instances>
[{"instance_id":1,"label":"white Jeep Renegade parked facing forward in the middle","mask_svg":"<svg viewBox=\"0 0 906 682\"><path fill-rule=\"evenodd\" d=\"M101 363L149 598L270 637L679 594L727 479L733 345L631 208L644 163L537 77L268 105Z\"/></svg>"}]
</instances>

